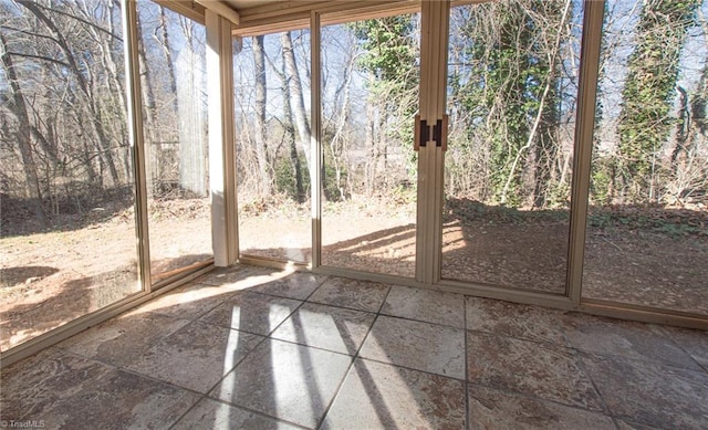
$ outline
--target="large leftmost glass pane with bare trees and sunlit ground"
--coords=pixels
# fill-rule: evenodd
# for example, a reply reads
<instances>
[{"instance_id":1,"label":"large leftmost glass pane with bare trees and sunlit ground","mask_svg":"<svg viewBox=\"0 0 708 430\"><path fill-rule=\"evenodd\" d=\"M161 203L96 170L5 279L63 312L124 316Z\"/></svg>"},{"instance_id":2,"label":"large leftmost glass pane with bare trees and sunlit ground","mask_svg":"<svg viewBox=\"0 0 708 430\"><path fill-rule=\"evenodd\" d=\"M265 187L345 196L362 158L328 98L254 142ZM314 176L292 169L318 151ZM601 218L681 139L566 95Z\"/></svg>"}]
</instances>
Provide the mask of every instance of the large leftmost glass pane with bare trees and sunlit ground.
<instances>
[{"instance_id":1,"label":"large leftmost glass pane with bare trees and sunlit ground","mask_svg":"<svg viewBox=\"0 0 708 430\"><path fill-rule=\"evenodd\" d=\"M0 349L139 291L121 10L0 2Z\"/></svg>"}]
</instances>

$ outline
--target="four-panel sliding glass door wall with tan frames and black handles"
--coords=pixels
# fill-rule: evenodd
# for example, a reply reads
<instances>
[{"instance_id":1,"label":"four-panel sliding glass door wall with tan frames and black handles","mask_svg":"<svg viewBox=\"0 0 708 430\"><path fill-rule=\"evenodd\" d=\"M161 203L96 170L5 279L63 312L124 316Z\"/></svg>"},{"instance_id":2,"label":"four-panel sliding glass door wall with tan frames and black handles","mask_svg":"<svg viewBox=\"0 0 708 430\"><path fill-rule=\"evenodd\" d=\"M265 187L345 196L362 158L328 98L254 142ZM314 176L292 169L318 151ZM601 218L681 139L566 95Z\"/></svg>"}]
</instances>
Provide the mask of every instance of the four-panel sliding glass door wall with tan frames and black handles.
<instances>
[{"instance_id":1,"label":"four-panel sliding glass door wall with tan frames and black handles","mask_svg":"<svg viewBox=\"0 0 708 430\"><path fill-rule=\"evenodd\" d=\"M705 315L708 2L465 3L240 41L242 255Z\"/></svg>"}]
</instances>

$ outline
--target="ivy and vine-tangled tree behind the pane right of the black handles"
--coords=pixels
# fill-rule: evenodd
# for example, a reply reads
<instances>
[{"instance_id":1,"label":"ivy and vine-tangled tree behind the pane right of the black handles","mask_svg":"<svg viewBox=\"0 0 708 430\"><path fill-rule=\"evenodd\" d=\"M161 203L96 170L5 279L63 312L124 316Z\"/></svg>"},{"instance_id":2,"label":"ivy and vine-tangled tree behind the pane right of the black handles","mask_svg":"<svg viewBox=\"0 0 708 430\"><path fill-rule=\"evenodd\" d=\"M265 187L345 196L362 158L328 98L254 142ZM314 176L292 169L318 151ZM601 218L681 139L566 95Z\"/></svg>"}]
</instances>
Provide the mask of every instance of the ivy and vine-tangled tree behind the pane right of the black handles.
<instances>
[{"instance_id":1,"label":"ivy and vine-tangled tree behind the pane right of the black handles","mask_svg":"<svg viewBox=\"0 0 708 430\"><path fill-rule=\"evenodd\" d=\"M546 206L558 176L560 51L571 3L518 0L465 13L461 40L452 41L464 48L451 59L451 97L466 118L464 140L488 148L480 198Z\"/></svg>"}]
</instances>

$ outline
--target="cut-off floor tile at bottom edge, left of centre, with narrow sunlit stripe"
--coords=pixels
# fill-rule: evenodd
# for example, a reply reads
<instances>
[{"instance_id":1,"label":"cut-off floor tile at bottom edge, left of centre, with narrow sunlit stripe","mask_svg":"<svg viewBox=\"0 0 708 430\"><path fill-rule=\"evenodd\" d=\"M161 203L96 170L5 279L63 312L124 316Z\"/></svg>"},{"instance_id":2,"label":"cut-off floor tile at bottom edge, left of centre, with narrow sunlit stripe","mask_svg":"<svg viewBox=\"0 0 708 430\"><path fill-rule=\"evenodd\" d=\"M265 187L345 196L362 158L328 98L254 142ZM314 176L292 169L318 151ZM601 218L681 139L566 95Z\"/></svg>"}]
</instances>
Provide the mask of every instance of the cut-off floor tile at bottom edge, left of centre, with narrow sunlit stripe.
<instances>
[{"instance_id":1,"label":"cut-off floor tile at bottom edge, left of centre, with narrow sunlit stripe","mask_svg":"<svg viewBox=\"0 0 708 430\"><path fill-rule=\"evenodd\" d=\"M237 408L236 406L204 398L173 427L173 430L202 429L288 430L300 429L300 427Z\"/></svg>"}]
</instances>

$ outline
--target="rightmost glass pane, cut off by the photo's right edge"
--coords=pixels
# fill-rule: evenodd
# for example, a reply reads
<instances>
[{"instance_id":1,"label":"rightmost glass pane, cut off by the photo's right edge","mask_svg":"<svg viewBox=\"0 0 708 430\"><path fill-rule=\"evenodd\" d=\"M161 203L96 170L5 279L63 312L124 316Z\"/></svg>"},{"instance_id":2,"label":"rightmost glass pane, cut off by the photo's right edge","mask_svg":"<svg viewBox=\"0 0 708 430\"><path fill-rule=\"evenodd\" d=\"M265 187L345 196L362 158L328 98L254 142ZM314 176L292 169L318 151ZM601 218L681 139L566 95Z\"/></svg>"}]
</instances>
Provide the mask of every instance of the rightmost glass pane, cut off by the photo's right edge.
<instances>
[{"instance_id":1,"label":"rightmost glass pane, cut off by the photo's right edge","mask_svg":"<svg viewBox=\"0 0 708 430\"><path fill-rule=\"evenodd\" d=\"M708 1L605 8L583 297L708 314Z\"/></svg>"}]
</instances>

